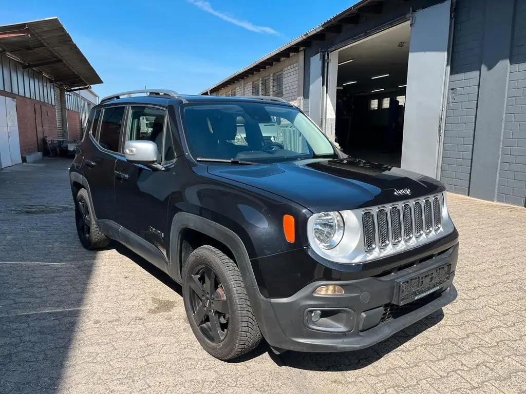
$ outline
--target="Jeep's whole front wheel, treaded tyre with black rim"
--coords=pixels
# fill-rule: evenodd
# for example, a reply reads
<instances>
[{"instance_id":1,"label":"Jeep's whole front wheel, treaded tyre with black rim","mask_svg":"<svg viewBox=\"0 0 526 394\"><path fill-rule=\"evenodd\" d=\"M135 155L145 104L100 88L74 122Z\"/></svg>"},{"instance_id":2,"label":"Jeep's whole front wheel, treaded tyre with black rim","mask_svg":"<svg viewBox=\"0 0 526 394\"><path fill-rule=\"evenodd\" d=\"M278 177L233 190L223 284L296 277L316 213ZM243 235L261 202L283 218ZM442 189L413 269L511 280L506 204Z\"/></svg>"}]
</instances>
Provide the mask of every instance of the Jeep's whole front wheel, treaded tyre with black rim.
<instances>
[{"instance_id":1,"label":"Jeep's whole front wheel, treaded tyre with black rim","mask_svg":"<svg viewBox=\"0 0 526 394\"><path fill-rule=\"evenodd\" d=\"M182 274L188 323L210 355L231 360L258 346L261 331L239 268L228 256L208 245L198 247ZM207 276L213 280L207 281Z\"/></svg>"}]
</instances>

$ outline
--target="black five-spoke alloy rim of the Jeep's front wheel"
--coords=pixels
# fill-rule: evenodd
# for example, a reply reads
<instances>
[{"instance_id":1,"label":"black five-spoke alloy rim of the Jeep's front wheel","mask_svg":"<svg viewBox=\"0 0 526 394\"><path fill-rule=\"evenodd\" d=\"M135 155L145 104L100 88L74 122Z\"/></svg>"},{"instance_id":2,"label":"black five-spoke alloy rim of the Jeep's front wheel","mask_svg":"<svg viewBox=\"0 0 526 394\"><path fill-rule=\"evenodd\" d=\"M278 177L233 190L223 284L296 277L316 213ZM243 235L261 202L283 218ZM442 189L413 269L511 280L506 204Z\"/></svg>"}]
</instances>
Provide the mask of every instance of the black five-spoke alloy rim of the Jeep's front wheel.
<instances>
[{"instance_id":1,"label":"black five-spoke alloy rim of the Jeep's front wheel","mask_svg":"<svg viewBox=\"0 0 526 394\"><path fill-rule=\"evenodd\" d=\"M228 299L214 270L198 266L188 281L190 308L203 335L218 344L228 333Z\"/></svg>"}]
</instances>

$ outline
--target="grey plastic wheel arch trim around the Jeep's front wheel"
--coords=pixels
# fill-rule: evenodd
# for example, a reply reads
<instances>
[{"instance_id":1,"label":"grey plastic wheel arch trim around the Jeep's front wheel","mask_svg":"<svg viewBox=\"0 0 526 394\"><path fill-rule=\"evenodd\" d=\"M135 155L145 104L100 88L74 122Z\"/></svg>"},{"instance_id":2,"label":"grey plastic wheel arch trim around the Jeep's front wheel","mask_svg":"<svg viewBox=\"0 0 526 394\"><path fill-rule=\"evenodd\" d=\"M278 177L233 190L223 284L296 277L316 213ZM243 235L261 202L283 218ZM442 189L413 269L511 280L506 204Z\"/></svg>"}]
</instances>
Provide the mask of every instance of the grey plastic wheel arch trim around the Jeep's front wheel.
<instances>
[{"instance_id":1,"label":"grey plastic wheel arch trim around the Jeep's front wheel","mask_svg":"<svg viewBox=\"0 0 526 394\"><path fill-rule=\"evenodd\" d=\"M215 246L221 250L220 243L224 245L227 250L221 250L225 254L232 257L234 262L239 267L245 285L250 287L257 287L254 272L250 265L250 258L247 249L239 236L214 221L205 219L204 217L194 215L187 212L179 212L174 216L170 226L170 243L169 243L169 265L168 273L177 282L181 283L181 269L183 267L184 258L186 254L183 250L183 240L186 231L193 231L203 234L205 237L216 242ZM218 247L219 246L219 247Z\"/></svg>"}]
</instances>

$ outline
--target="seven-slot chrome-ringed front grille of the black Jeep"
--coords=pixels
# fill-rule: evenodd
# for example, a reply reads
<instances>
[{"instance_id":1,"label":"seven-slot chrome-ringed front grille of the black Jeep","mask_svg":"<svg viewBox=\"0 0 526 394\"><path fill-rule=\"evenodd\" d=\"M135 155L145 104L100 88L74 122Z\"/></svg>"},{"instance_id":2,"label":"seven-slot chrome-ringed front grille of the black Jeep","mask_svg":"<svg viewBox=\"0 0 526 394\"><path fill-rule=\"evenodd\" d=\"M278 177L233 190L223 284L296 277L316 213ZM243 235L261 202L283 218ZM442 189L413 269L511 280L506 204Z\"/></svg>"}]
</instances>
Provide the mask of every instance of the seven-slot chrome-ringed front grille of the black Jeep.
<instances>
[{"instance_id":1,"label":"seven-slot chrome-ringed front grille of the black Jeep","mask_svg":"<svg viewBox=\"0 0 526 394\"><path fill-rule=\"evenodd\" d=\"M362 211L363 242L365 250L372 252L432 235L441 229L441 200L438 195L423 200L381 206L376 212ZM422 206L423 205L423 206ZM427 238L427 237L426 237Z\"/></svg>"}]
</instances>

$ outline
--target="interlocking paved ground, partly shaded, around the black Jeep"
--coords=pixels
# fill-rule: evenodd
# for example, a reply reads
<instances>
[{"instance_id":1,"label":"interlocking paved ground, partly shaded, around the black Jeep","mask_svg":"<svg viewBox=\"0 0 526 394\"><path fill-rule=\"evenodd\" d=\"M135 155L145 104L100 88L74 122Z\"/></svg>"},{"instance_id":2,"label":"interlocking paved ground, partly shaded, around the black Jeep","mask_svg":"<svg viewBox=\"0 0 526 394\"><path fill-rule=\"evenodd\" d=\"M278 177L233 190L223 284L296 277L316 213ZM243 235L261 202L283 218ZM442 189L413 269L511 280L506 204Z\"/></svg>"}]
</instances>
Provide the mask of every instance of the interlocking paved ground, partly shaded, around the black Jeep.
<instances>
[{"instance_id":1,"label":"interlocking paved ground, partly shaded, around the black Jeep","mask_svg":"<svg viewBox=\"0 0 526 394\"><path fill-rule=\"evenodd\" d=\"M1 393L411 393L525 390L526 210L449 196L459 298L370 349L218 361L180 287L120 246L77 240L60 159L0 172ZM522 391L524 392L524 391Z\"/></svg>"}]
</instances>

